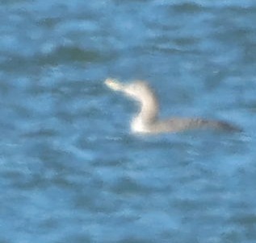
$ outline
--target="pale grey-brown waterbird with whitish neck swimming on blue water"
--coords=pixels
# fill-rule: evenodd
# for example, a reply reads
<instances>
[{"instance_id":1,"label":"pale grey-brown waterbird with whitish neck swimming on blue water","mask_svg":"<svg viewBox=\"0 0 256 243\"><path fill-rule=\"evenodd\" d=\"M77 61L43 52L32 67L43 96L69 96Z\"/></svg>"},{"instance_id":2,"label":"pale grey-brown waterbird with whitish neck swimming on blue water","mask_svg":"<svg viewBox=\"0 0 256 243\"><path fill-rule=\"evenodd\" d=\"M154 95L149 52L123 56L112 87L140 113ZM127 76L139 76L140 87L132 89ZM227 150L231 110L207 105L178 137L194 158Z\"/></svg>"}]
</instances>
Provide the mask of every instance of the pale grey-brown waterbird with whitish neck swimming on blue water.
<instances>
[{"instance_id":1,"label":"pale grey-brown waterbird with whitish neck swimming on blue water","mask_svg":"<svg viewBox=\"0 0 256 243\"><path fill-rule=\"evenodd\" d=\"M140 103L140 112L132 119L131 122L131 130L133 133L175 133L183 130L200 128L240 131L239 128L230 125L225 121L205 120L197 117L172 117L166 120L158 120L159 106L157 97L147 82L137 80L129 84L123 84L119 80L108 78L104 83L108 88L120 91Z\"/></svg>"}]
</instances>

